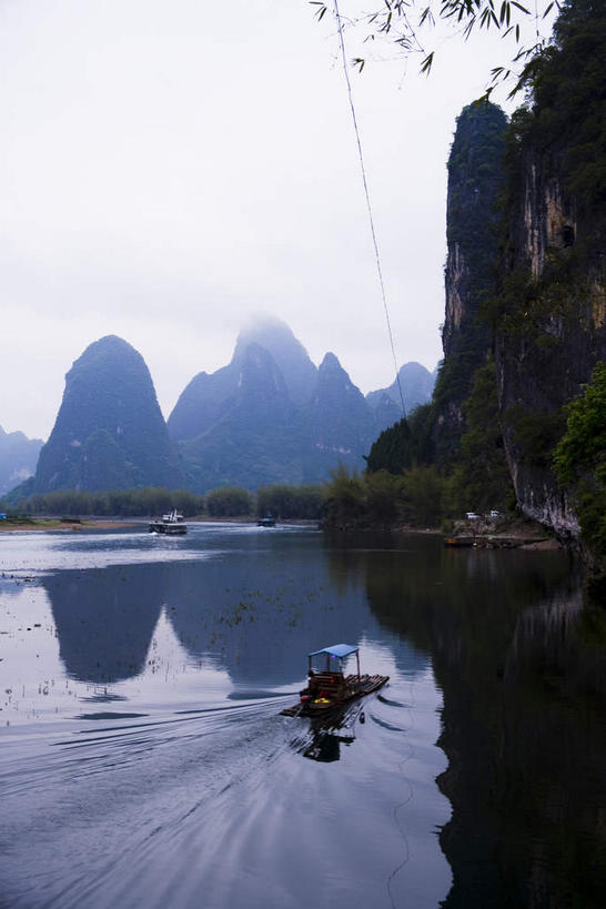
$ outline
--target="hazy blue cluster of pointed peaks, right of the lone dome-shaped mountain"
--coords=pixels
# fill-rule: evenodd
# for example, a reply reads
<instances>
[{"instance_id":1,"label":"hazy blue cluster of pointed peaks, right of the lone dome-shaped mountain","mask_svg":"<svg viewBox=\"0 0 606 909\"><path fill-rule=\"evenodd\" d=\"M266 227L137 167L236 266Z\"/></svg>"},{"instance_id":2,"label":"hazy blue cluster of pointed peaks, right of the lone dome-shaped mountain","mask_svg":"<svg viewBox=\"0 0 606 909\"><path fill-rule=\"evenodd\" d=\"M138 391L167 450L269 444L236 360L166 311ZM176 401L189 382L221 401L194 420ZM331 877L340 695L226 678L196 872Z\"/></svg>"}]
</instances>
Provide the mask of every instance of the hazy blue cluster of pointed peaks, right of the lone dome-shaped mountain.
<instances>
[{"instance_id":1,"label":"hazy blue cluster of pointed peaks, right of the lone dome-shaped mountain","mask_svg":"<svg viewBox=\"0 0 606 909\"><path fill-rule=\"evenodd\" d=\"M413 406L430 400L427 370L407 364L401 375L406 387L413 380ZM340 462L364 467L373 441L402 416L394 387L365 398L333 353L316 367L287 325L264 319L241 332L226 366L192 378L168 427L195 492L320 483Z\"/></svg>"}]
</instances>

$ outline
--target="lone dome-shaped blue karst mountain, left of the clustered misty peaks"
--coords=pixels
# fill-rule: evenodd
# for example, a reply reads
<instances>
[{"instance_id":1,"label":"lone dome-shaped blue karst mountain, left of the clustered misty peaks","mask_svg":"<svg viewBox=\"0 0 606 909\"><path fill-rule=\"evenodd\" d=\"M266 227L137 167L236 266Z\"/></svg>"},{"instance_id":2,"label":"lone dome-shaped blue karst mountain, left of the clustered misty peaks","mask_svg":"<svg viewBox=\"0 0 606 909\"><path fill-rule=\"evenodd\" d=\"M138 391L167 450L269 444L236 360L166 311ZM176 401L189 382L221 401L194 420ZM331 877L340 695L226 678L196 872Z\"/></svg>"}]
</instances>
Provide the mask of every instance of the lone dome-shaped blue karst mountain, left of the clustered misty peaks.
<instances>
[{"instance_id":1,"label":"lone dome-shaped blue karst mountain, left of the clustered misty peaks","mask_svg":"<svg viewBox=\"0 0 606 909\"><path fill-rule=\"evenodd\" d=\"M175 488L182 483L143 357L115 335L95 341L65 376L33 491Z\"/></svg>"}]
</instances>

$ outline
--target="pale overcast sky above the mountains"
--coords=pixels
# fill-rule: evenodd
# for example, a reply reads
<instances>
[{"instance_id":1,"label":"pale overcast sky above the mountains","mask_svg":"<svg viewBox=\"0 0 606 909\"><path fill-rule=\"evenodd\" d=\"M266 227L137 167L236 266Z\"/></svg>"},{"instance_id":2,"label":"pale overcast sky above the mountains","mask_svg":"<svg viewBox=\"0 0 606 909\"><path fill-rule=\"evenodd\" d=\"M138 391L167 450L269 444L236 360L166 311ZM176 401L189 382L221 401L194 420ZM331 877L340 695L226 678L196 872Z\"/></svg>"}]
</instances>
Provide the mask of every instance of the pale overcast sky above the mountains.
<instances>
[{"instance_id":1,"label":"pale overcast sky above the mountains","mask_svg":"<svg viewBox=\"0 0 606 909\"><path fill-rule=\"evenodd\" d=\"M430 79L381 55L352 73L355 102L397 360L432 370L455 118L506 53L445 41ZM316 363L333 351L362 391L391 384L327 17L305 0L0 0L0 71L6 431L46 438L65 372L105 334L143 355L168 417L251 312Z\"/></svg>"}]
</instances>

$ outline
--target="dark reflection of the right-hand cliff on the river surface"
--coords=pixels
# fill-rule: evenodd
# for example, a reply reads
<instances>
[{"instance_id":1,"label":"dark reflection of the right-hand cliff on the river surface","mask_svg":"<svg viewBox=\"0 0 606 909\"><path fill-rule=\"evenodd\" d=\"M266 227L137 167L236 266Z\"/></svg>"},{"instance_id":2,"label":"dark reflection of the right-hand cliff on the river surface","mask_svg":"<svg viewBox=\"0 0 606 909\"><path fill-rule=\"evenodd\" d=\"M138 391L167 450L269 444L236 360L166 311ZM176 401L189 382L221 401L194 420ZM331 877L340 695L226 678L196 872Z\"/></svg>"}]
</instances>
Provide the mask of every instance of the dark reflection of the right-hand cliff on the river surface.
<instances>
[{"instance_id":1,"label":"dark reflection of the right-hand cliff on the river surface","mask_svg":"<svg viewBox=\"0 0 606 909\"><path fill-rule=\"evenodd\" d=\"M432 654L443 691L454 883L441 905L604 906L606 612L584 608L558 557L445 549L436 570L415 548L349 570L381 623Z\"/></svg>"}]
</instances>

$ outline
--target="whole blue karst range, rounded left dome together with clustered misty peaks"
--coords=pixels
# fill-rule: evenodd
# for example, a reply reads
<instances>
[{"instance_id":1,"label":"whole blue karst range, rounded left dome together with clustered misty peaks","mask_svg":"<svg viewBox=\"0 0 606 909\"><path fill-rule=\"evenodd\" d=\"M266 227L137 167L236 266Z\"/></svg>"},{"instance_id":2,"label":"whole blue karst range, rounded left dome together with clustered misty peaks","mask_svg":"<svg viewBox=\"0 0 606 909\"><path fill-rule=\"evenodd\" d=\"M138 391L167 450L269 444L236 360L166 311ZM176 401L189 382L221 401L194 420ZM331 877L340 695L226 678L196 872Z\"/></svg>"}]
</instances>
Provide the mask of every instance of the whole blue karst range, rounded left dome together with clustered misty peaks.
<instances>
[{"instance_id":1,"label":"whole blue karst range, rounded left dome together with clustered misty peaks","mask_svg":"<svg viewBox=\"0 0 606 909\"><path fill-rule=\"evenodd\" d=\"M407 363L400 378L407 411L430 400L424 366ZM363 468L401 416L397 383L364 397L333 353L316 367L287 325L263 319L240 333L226 366L191 380L165 424L142 356L108 335L67 374L23 492L319 483L340 462Z\"/></svg>"}]
</instances>

